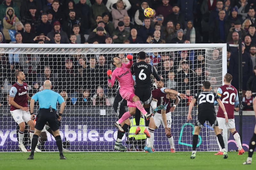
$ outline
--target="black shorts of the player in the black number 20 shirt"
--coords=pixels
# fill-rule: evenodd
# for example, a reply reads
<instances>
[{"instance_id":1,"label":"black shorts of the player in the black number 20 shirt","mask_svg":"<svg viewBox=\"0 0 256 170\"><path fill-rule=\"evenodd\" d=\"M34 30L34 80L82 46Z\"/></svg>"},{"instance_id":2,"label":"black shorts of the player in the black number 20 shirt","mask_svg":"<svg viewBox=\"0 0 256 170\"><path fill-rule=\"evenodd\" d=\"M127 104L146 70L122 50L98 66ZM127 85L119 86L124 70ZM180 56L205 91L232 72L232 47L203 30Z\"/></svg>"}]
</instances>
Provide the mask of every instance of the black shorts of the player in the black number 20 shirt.
<instances>
[{"instance_id":1,"label":"black shorts of the player in the black number 20 shirt","mask_svg":"<svg viewBox=\"0 0 256 170\"><path fill-rule=\"evenodd\" d=\"M204 128L204 123L206 120L209 121L212 128L214 126L219 126L218 120L216 118L216 112L211 111L198 112L195 126L200 126L201 128Z\"/></svg>"}]
</instances>

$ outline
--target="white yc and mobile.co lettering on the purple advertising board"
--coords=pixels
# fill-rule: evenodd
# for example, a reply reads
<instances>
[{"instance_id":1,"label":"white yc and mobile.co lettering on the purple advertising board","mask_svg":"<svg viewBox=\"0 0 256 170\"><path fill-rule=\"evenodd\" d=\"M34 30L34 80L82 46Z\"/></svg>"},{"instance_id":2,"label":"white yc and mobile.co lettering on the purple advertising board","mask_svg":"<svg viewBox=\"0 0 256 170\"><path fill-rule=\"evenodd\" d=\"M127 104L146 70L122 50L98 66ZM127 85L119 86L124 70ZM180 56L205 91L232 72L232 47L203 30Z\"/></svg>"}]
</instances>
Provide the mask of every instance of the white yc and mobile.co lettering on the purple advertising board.
<instances>
[{"instance_id":1,"label":"white yc and mobile.co lettering on the purple advertising board","mask_svg":"<svg viewBox=\"0 0 256 170\"><path fill-rule=\"evenodd\" d=\"M70 129L69 125L65 125L60 129L60 136L62 139L66 137L70 142L113 142L116 141L117 132L116 129L87 129L87 125L77 125L77 129ZM55 138L49 132L46 131L46 134L47 141L55 141ZM125 140L125 135L123 140ZM0 141L0 146L10 146L11 142L18 142L16 130L0 130Z\"/></svg>"}]
</instances>

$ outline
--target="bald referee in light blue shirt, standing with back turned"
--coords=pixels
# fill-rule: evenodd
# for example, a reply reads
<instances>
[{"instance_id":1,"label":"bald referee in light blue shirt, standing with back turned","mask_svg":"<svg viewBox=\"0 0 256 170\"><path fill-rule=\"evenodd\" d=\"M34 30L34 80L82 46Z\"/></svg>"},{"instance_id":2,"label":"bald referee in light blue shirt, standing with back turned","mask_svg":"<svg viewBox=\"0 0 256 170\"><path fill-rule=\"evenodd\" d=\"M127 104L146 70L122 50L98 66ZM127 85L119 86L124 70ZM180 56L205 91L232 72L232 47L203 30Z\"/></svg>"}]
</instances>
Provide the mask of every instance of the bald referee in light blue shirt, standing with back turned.
<instances>
[{"instance_id":1,"label":"bald referee in light blue shirt, standing with back turned","mask_svg":"<svg viewBox=\"0 0 256 170\"><path fill-rule=\"evenodd\" d=\"M44 90L36 93L32 96L30 101L30 114L31 119L34 119L34 104L36 101L39 103L39 112L37 114L35 133L32 138L31 144L31 153L28 159L34 159L34 152L36 148L36 144L38 141L38 136L40 135L42 129L46 122L49 123L49 126L52 128L52 133L55 137L56 144L60 151L60 159L66 159L66 157L62 153L62 140L59 132L59 122L61 119L61 115L64 111L66 103L64 102L63 97L60 94L51 90L52 82L49 80L44 81ZM57 102L60 104L59 115L56 114L56 105Z\"/></svg>"}]
</instances>

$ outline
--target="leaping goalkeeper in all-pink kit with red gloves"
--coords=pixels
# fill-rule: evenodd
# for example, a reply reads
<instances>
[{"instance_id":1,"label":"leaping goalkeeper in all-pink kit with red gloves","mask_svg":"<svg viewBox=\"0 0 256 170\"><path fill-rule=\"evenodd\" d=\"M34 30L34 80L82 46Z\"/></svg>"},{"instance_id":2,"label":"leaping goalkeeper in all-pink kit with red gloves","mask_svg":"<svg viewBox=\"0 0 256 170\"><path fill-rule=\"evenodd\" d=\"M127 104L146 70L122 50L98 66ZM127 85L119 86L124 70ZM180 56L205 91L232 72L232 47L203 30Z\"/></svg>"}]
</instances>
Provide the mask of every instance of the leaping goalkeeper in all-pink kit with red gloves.
<instances>
[{"instance_id":1,"label":"leaping goalkeeper in all-pink kit with red gloves","mask_svg":"<svg viewBox=\"0 0 256 170\"><path fill-rule=\"evenodd\" d=\"M130 71L130 67L132 66L132 59L133 56L128 54L127 59L129 62L127 64L122 63L120 58L113 57L112 58L112 64L116 66L116 69L113 71L108 70L108 86L110 88L113 87L115 80L119 82L119 92L122 98L127 100L127 106L129 108L128 112L125 112L124 115L115 123L115 126L120 130L124 131L121 127L121 123L131 117L135 111L136 107L142 112L146 119L149 119L152 116L152 113L148 113L145 111L143 106L140 103L140 98L134 94L134 80L132 78L132 73Z\"/></svg>"}]
</instances>

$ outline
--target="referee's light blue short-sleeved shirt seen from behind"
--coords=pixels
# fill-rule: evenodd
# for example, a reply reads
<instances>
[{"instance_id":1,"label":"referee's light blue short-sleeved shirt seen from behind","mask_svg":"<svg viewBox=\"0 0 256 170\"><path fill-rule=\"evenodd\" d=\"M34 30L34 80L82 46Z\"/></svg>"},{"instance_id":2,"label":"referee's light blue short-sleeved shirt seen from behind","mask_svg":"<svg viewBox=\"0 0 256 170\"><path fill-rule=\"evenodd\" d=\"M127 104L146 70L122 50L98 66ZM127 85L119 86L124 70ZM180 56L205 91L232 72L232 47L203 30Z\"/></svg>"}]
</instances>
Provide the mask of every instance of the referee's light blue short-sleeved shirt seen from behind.
<instances>
[{"instance_id":1,"label":"referee's light blue short-sleeved shirt seen from behind","mask_svg":"<svg viewBox=\"0 0 256 170\"><path fill-rule=\"evenodd\" d=\"M52 109L56 109L57 102L61 104L64 101L64 98L60 96L59 93L56 93L50 89L44 89L43 91L37 92L31 99L34 99L35 102L38 101L39 109L49 109L52 106Z\"/></svg>"}]
</instances>

